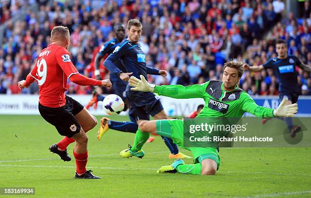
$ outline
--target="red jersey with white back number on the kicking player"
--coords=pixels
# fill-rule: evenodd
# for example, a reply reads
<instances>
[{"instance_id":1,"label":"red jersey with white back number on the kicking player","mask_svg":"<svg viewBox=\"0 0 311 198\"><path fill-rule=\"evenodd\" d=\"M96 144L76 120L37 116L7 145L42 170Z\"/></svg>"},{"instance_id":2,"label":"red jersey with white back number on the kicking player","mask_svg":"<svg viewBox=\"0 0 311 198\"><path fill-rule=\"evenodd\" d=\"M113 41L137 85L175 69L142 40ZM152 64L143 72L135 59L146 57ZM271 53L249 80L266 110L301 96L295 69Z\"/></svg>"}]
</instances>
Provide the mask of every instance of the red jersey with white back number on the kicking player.
<instances>
[{"instance_id":1,"label":"red jersey with white back number on the kicking player","mask_svg":"<svg viewBox=\"0 0 311 198\"><path fill-rule=\"evenodd\" d=\"M79 73L66 48L51 44L43 49L30 75L39 85L39 102L47 107L66 104L67 77Z\"/></svg>"}]
</instances>

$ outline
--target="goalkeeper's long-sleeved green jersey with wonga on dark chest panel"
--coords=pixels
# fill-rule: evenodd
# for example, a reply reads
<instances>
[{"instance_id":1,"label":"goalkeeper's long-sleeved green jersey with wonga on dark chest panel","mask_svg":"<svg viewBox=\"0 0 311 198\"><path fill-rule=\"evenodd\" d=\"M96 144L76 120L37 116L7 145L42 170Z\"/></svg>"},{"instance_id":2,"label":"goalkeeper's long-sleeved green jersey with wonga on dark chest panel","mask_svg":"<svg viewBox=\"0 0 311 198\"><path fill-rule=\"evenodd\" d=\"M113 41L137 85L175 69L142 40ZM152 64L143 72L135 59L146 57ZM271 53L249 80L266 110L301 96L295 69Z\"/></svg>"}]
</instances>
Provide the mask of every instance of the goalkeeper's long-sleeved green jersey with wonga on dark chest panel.
<instances>
[{"instance_id":1,"label":"goalkeeper's long-sleeved green jersey with wonga on dark chest panel","mask_svg":"<svg viewBox=\"0 0 311 198\"><path fill-rule=\"evenodd\" d=\"M208 81L201 85L163 85L155 86L154 93L171 98L203 98L204 108L197 117L241 117L249 112L257 117L273 117L273 110L259 106L247 92L236 88L233 91L223 90L221 81Z\"/></svg>"}]
</instances>

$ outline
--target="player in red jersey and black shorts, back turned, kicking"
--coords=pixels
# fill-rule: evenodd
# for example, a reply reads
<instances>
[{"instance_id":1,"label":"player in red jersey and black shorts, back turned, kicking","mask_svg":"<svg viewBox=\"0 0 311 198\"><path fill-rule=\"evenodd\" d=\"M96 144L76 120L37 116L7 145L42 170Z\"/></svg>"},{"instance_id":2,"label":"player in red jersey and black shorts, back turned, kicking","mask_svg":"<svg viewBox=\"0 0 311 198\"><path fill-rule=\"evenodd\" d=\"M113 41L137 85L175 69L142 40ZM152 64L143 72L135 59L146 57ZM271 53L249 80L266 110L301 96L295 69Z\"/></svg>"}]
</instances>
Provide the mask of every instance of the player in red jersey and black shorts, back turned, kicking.
<instances>
[{"instance_id":1,"label":"player in red jersey and black shorts, back turned, kicking","mask_svg":"<svg viewBox=\"0 0 311 198\"><path fill-rule=\"evenodd\" d=\"M79 102L66 96L67 77L81 86L111 87L110 80L98 81L80 74L70 60L69 29L56 26L51 32L51 44L41 51L37 63L27 75L26 80L18 82L20 89L28 87L35 80L39 85L39 112L58 133L65 136L60 142L50 146L50 151L58 154L62 160L71 161L66 147L76 142L73 154L77 171L75 178L100 179L86 170L87 136L86 132L97 125L96 118Z\"/></svg>"}]
</instances>

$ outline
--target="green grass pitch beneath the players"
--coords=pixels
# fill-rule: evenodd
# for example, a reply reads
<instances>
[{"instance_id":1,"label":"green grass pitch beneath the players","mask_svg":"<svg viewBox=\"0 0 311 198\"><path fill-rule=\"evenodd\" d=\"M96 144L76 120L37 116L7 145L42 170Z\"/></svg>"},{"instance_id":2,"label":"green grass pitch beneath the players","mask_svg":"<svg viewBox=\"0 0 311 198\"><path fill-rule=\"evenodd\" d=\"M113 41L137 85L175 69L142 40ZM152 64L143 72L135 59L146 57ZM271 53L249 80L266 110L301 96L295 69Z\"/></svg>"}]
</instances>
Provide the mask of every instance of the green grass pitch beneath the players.
<instances>
[{"instance_id":1,"label":"green grass pitch beneath the players","mask_svg":"<svg viewBox=\"0 0 311 198\"><path fill-rule=\"evenodd\" d=\"M0 126L0 187L36 188L16 197L311 197L310 148L221 148L214 176L157 174L172 163L160 137L144 146L143 159L122 159L134 134L110 130L98 141L96 127L87 133L87 168L102 179L78 180L74 158L63 162L49 152L61 136L41 116L0 115Z\"/></svg>"}]
</instances>

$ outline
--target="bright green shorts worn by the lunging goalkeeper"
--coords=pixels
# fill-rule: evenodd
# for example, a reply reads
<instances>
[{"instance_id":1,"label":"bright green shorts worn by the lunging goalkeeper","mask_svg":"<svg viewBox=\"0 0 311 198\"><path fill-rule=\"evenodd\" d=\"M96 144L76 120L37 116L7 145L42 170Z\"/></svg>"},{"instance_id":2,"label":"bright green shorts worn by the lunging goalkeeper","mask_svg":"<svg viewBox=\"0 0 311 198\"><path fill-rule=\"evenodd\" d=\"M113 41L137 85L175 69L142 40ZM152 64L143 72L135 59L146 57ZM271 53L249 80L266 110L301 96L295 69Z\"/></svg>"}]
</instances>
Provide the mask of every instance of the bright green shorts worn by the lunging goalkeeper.
<instances>
[{"instance_id":1,"label":"bright green shorts worn by the lunging goalkeeper","mask_svg":"<svg viewBox=\"0 0 311 198\"><path fill-rule=\"evenodd\" d=\"M169 137L175 144L184 149L190 150L194 163L201 163L202 160L211 159L216 162L217 169L221 164L220 156L214 147L184 147L183 146L183 121L178 119L158 120L156 122L157 134Z\"/></svg>"}]
</instances>

